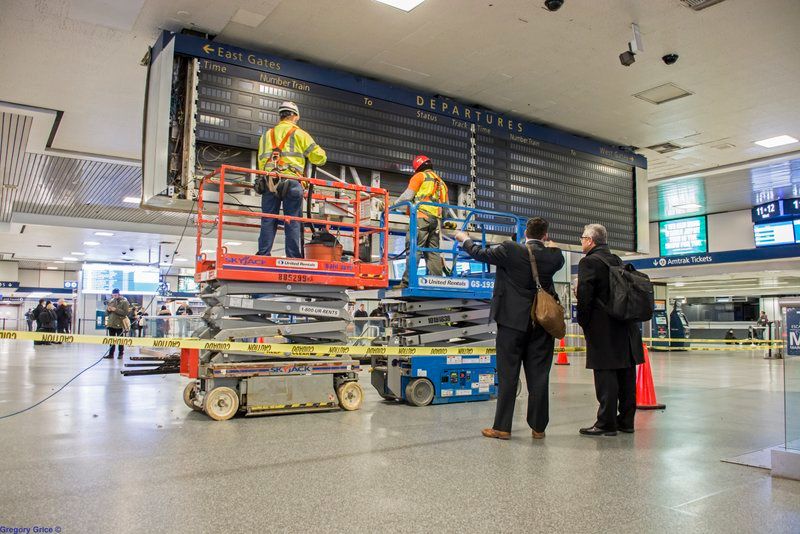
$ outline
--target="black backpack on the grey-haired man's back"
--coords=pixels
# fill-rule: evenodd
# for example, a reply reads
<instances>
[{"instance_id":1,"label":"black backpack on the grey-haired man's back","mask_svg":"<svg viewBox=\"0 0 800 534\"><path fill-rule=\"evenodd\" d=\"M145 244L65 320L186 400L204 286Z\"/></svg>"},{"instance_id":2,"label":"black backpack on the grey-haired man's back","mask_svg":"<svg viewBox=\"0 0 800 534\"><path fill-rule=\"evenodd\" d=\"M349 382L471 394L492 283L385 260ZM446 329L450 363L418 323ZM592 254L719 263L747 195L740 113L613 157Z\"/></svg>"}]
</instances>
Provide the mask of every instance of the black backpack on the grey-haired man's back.
<instances>
[{"instance_id":1,"label":"black backpack on the grey-haired man's back","mask_svg":"<svg viewBox=\"0 0 800 534\"><path fill-rule=\"evenodd\" d=\"M606 258L598 257L608 266L606 312L618 321L644 322L652 319L655 295L650 277L637 271L633 265L611 265Z\"/></svg>"}]
</instances>

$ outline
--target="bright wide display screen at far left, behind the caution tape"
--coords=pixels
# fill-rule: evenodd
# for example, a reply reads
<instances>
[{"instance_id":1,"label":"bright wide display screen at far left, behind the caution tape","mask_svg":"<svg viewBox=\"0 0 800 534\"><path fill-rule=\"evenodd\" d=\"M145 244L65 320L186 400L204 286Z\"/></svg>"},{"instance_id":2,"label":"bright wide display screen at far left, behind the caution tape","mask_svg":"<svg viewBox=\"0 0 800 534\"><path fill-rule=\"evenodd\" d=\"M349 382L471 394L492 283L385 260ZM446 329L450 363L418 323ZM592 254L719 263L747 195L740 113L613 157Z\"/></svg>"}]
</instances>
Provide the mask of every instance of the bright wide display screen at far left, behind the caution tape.
<instances>
[{"instance_id":1,"label":"bright wide display screen at far left, behind the caution tape","mask_svg":"<svg viewBox=\"0 0 800 534\"><path fill-rule=\"evenodd\" d=\"M86 263L81 274L84 293L111 294L114 289L119 289L123 296L126 293L155 295L158 292L157 267Z\"/></svg>"}]
</instances>

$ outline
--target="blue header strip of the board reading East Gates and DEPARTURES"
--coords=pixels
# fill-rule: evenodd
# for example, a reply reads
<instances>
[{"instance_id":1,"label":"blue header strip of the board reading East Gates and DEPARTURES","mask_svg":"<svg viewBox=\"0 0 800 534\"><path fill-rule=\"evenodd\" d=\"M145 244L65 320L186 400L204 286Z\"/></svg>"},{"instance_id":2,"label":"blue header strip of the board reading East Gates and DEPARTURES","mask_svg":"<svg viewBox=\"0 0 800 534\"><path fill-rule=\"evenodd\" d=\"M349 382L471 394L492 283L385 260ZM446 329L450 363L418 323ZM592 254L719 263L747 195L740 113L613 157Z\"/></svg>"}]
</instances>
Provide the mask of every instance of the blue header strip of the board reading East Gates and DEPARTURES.
<instances>
[{"instance_id":1,"label":"blue header strip of the board reading East Gates and DEPARTURES","mask_svg":"<svg viewBox=\"0 0 800 534\"><path fill-rule=\"evenodd\" d=\"M449 117L455 121L475 124L488 128L493 133L502 133L518 142L544 142L560 145L587 154L593 154L640 168L647 168L644 156L634 154L619 147L586 139L540 124L534 124L517 117L496 113L480 106L465 105L456 100L437 95L413 91L385 82L371 80L355 74L319 67L310 63L294 61L273 54L264 54L236 46L209 41L200 37L163 32L153 47L153 57L157 56L167 44L175 41L175 53L230 65L238 65L311 83L326 85L363 95L364 105L370 107L386 103L401 104L417 110L418 113L432 113ZM275 78L278 83L281 81ZM285 80L285 79L284 79ZM286 83L297 83L286 80ZM380 99L384 102L379 102Z\"/></svg>"}]
</instances>

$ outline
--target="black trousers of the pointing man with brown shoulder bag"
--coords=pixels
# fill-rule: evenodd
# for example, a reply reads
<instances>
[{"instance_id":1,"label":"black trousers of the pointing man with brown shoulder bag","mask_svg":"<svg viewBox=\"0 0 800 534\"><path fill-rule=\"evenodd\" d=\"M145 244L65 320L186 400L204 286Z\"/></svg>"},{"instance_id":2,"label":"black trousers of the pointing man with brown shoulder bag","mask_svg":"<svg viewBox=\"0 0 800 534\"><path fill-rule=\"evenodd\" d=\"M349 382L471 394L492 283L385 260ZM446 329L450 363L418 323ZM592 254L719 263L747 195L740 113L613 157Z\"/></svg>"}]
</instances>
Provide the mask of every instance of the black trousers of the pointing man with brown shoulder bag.
<instances>
[{"instance_id":1,"label":"black trousers of the pointing man with brown shoulder bag","mask_svg":"<svg viewBox=\"0 0 800 534\"><path fill-rule=\"evenodd\" d=\"M520 367L528 383L528 426L544 432L550 421L550 367L553 364L553 336L541 326L527 332L497 325L497 408L492 428L511 432Z\"/></svg>"}]
</instances>

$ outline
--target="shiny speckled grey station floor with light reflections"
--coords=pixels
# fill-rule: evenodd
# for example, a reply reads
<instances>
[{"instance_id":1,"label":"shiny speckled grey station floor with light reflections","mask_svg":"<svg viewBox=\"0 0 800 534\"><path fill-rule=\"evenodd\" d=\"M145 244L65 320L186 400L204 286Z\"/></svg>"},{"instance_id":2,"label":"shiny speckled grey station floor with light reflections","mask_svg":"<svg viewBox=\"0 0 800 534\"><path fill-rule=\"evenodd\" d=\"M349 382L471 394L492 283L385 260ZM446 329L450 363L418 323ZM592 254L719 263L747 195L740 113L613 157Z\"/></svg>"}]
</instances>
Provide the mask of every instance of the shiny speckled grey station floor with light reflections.
<instances>
[{"instance_id":1,"label":"shiny speckled grey station floor with light reflections","mask_svg":"<svg viewBox=\"0 0 800 534\"><path fill-rule=\"evenodd\" d=\"M0 342L0 416L96 361L97 346ZM0 419L0 526L62 532L800 532L800 482L723 463L783 440L780 361L655 353L664 412L588 438L591 373L551 373L551 423L510 441L494 402L412 408L369 386L357 412L236 418L189 411L177 375L103 360Z\"/></svg>"}]
</instances>

